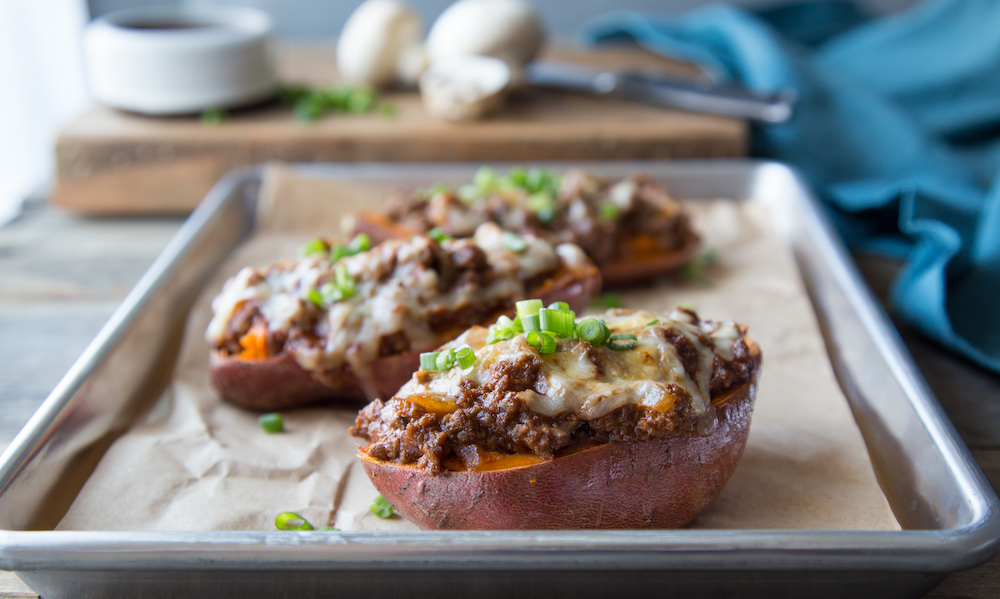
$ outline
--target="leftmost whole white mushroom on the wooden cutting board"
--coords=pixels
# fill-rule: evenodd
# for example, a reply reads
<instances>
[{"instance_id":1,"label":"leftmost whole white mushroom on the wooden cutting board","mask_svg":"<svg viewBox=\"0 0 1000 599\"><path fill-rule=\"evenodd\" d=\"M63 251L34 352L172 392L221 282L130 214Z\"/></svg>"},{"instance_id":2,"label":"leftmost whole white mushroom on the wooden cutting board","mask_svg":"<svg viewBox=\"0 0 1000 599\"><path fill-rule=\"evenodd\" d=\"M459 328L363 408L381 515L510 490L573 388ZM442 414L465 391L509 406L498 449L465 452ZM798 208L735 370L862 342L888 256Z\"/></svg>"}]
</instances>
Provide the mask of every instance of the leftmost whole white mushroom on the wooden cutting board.
<instances>
[{"instance_id":1,"label":"leftmost whole white mushroom on the wooden cutting board","mask_svg":"<svg viewBox=\"0 0 1000 599\"><path fill-rule=\"evenodd\" d=\"M337 69L348 83L413 85L427 64L422 24L400 0L367 0L351 13L337 41Z\"/></svg>"}]
</instances>

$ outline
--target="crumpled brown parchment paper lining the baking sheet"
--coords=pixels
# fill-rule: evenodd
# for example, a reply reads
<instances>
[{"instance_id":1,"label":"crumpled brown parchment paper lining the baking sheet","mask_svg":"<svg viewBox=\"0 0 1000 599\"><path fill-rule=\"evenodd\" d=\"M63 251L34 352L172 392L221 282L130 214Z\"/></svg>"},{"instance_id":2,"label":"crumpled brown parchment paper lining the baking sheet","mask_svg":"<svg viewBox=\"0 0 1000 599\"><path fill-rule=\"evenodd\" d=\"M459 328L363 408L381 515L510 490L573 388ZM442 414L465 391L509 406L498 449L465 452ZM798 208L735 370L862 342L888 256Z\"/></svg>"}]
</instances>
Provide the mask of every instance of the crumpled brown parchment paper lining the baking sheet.
<instances>
[{"instance_id":1,"label":"crumpled brown parchment paper lining the baking sheet","mask_svg":"<svg viewBox=\"0 0 1000 599\"><path fill-rule=\"evenodd\" d=\"M204 330L209 302L242 266L293 256L340 217L377 206L384 186L306 179L269 170L261 226L221 268L188 321L166 398L118 439L60 522L60 530L274 530L281 512L315 527L416 527L369 512L376 495L347 434L360 405L284 414L268 435L257 414L219 400L209 382ZM793 259L763 206L692 203L718 264L706 283L665 278L622 293L626 307L695 305L704 318L749 325L764 354L750 439L718 501L692 525L728 529L867 529L899 525L872 471L861 434L830 367Z\"/></svg>"}]
</instances>

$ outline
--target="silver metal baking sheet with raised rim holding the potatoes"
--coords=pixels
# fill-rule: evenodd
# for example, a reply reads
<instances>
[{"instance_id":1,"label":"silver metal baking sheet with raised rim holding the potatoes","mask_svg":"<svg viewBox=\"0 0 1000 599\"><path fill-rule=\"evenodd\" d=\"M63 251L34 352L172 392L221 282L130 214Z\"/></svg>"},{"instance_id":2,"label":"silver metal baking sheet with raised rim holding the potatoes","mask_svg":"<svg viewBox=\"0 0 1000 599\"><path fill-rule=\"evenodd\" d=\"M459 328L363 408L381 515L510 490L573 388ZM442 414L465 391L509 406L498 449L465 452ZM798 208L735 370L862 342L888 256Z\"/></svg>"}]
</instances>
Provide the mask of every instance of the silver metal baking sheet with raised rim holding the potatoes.
<instances>
[{"instance_id":1,"label":"silver metal baking sheet with raised rim holding the potatoes","mask_svg":"<svg viewBox=\"0 0 1000 599\"><path fill-rule=\"evenodd\" d=\"M310 165L308 176L426 184L478 165ZM108 445L170 378L207 277L254 226L262 168L205 198L0 457L0 567L60 597L444 593L910 597L989 559L997 497L838 241L786 166L629 162L677 197L764 202L794 252L841 386L901 531L52 531Z\"/></svg>"}]
</instances>

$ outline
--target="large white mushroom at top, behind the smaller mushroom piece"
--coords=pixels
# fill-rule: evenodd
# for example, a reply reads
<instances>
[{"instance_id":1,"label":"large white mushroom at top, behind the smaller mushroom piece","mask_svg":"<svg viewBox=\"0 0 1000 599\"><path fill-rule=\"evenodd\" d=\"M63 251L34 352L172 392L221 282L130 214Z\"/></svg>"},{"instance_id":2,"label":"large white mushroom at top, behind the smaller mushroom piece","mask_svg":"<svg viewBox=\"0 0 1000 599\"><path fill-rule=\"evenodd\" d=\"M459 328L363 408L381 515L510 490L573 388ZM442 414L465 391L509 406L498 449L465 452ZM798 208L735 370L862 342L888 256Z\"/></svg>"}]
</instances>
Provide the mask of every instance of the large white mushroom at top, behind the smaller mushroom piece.
<instances>
[{"instance_id":1,"label":"large white mushroom at top, behind the smaller mushroom piece","mask_svg":"<svg viewBox=\"0 0 1000 599\"><path fill-rule=\"evenodd\" d=\"M525 0L458 0L431 26L427 55L433 64L481 54L516 69L538 54L544 37L538 15Z\"/></svg>"}]
</instances>

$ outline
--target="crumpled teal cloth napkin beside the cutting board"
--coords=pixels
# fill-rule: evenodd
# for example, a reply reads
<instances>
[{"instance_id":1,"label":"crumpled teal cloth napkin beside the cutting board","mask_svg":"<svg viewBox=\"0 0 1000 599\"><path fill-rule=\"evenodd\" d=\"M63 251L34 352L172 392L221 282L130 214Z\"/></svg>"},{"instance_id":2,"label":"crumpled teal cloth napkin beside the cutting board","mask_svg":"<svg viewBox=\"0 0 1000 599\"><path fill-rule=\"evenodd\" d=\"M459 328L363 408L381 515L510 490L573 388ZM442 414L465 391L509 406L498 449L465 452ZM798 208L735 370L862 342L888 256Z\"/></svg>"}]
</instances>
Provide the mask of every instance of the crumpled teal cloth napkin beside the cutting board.
<instances>
[{"instance_id":1,"label":"crumpled teal cloth napkin beside the cutting board","mask_svg":"<svg viewBox=\"0 0 1000 599\"><path fill-rule=\"evenodd\" d=\"M795 90L793 118L754 126L751 151L801 169L849 245L905 258L891 296L903 319L1000 372L1000 2L877 20L843 1L620 11L582 37Z\"/></svg>"}]
</instances>

